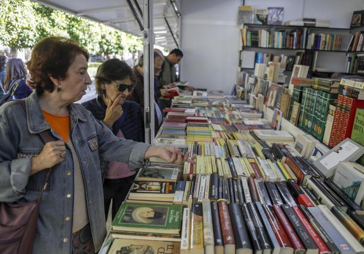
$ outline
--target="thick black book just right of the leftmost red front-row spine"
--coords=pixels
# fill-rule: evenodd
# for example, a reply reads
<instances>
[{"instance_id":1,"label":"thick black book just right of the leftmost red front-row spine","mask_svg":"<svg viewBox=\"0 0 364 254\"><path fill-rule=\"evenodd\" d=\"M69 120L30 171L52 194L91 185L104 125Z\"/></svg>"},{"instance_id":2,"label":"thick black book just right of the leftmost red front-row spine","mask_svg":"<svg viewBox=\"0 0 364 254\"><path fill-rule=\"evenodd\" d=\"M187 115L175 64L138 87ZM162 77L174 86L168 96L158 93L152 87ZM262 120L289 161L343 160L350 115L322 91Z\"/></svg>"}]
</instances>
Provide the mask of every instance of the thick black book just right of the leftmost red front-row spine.
<instances>
[{"instance_id":1,"label":"thick black book just right of the leftmost red front-row spine","mask_svg":"<svg viewBox=\"0 0 364 254\"><path fill-rule=\"evenodd\" d=\"M248 231L245 227L244 218L240 211L240 205L231 203L228 205L230 217L233 225L233 231L236 243L236 253L249 254L253 253L252 245L250 244Z\"/></svg>"}]
</instances>

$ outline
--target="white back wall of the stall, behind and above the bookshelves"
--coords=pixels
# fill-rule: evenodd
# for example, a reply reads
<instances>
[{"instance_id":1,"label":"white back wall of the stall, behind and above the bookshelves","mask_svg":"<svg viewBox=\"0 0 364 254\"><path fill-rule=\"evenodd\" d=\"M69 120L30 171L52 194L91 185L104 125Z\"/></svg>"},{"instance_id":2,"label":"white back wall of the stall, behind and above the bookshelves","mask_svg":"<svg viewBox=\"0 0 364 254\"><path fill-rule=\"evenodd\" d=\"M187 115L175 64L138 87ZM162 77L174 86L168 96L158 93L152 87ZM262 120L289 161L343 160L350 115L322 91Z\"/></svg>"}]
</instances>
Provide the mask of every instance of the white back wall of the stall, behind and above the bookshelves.
<instances>
[{"instance_id":1,"label":"white back wall of the stall, behind and above the bookshelves","mask_svg":"<svg viewBox=\"0 0 364 254\"><path fill-rule=\"evenodd\" d=\"M240 4L240 0L181 1L181 80L195 87L230 92L237 81L241 37L236 24ZM245 5L284 7L284 21L301 17L329 19L331 27L348 28L353 11L364 9L364 0L246 0ZM346 59L344 53L321 53L323 61L325 57L334 62ZM329 67L335 70L335 66Z\"/></svg>"}]
</instances>

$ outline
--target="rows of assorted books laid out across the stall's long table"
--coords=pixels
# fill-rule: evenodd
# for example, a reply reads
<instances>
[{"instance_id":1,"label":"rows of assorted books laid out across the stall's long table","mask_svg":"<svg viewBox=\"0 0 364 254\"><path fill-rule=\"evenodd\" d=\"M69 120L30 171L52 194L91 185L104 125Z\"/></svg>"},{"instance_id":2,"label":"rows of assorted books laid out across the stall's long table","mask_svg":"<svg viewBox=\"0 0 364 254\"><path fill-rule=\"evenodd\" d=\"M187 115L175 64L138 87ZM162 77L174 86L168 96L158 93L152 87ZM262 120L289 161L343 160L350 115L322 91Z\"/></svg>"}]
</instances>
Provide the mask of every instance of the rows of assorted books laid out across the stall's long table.
<instances>
[{"instance_id":1,"label":"rows of assorted books laid out across the stall's long table","mask_svg":"<svg viewBox=\"0 0 364 254\"><path fill-rule=\"evenodd\" d=\"M185 140L195 123L210 136L224 126L218 131L223 137L185 141L182 153L190 152L190 158L182 164L151 158L112 222L110 253L135 245L150 253L364 251L364 169L353 162L364 147L345 139L318 153L319 143L306 136L294 141L259 116L242 118L248 127L243 131L238 124L213 123L246 108L252 106L176 108L184 122L170 118L163 124L176 123ZM174 110L167 111L169 119ZM188 122L190 116L207 120ZM161 129L159 135L168 130Z\"/></svg>"}]
</instances>

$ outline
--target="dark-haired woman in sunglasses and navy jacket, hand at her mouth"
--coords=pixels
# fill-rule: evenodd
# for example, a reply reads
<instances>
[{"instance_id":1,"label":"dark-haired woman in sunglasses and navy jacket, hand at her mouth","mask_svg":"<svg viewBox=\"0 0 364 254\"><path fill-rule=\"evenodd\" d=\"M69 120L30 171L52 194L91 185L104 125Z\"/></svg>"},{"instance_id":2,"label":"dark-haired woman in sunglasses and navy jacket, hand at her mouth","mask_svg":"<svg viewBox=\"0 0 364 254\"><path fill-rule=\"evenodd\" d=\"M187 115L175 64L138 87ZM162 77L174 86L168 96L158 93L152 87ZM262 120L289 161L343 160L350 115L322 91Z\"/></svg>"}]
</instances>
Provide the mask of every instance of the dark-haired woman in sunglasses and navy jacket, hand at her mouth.
<instances>
[{"instance_id":1,"label":"dark-haired woman in sunglasses and navy jacket, hand at her mouth","mask_svg":"<svg viewBox=\"0 0 364 254\"><path fill-rule=\"evenodd\" d=\"M106 60L96 72L98 97L82 105L118 138L144 142L142 107L126 100L129 93L134 91L135 82L134 73L125 61L117 58ZM112 200L111 216L114 220L134 180L135 171L130 171L127 163L116 161L101 161L101 168L106 171L103 184L105 219Z\"/></svg>"}]
</instances>

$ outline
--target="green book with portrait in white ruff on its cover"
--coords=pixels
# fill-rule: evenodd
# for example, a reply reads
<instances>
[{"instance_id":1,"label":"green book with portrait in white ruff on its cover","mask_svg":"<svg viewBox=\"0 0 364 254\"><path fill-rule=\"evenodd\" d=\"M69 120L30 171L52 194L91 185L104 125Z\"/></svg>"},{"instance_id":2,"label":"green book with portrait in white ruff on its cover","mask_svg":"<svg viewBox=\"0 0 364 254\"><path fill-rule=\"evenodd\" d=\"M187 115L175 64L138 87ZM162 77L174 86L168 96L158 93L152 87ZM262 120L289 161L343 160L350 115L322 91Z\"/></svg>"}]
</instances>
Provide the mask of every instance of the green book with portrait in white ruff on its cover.
<instances>
[{"instance_id":1,"label":"green book with portrait in white ruff on its cover","mask_svg":"<svg viewBox=\"0 0 364 254\"><path fill-rule=\"evenodd\" d=\"M179 234L182 206L123 202L111 223L112 230Z\"/></svg>"}]
</instances>

